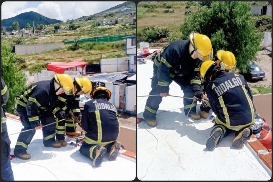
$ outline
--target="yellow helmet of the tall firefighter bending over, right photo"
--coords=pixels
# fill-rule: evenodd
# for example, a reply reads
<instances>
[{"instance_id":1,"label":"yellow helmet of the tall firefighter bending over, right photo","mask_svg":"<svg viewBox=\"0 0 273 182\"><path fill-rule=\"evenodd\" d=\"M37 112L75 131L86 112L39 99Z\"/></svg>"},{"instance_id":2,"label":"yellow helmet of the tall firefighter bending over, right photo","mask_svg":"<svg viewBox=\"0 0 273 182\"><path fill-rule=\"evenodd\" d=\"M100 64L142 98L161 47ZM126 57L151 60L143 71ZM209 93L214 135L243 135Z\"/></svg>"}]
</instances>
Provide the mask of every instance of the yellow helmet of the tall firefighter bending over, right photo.
<instances>
[{"instance_id":1,"label":"yellow helmet of the tall firefighter bending over, right photo","mask_svg":"<svg viewBox=\"0 0 273 182\"><path fill-rule=\"evenodd\" d=\"M189 35L189 39L200 60L212 60L213 48L211 46L211 41L208 36L192 31Z\"/></svg>"}]
</instances>

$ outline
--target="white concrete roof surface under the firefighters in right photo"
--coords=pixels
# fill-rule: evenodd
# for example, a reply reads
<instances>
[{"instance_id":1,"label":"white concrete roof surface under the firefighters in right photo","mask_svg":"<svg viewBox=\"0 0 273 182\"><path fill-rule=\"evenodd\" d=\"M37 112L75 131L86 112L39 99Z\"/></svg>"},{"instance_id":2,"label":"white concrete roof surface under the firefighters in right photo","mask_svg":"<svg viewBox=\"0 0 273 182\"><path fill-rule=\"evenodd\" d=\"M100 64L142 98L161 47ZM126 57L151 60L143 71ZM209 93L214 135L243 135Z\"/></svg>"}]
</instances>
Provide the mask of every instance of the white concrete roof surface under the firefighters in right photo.
<instances>
[{"instance_id":1,"label":"white concrete roof surface under the firefighters in right photo","mask_svg":"<svg viewBox=\"0 0 273 182\"><path fill-rule=\"evenodd\" d=\"M137 66L137 95L149 95L153 62L147 60L147 64ZM171 83L169 93L183 96L175 82ZM143 118L147 98L137 98L137 117ZM199 107L200 104L197 110ZM212 114L215 115L210 111L209 116ZM183 99L164 97L157 111L157 121L156 127L149 127L146 122L137 126L139 179L239 181L271 178L271 173L246 145L243 149L230 148L234 133L225 137L214 151L206 151L213 123L203 119L193 124L189 122L184 114Z\"/></svg>"}]
</instances>

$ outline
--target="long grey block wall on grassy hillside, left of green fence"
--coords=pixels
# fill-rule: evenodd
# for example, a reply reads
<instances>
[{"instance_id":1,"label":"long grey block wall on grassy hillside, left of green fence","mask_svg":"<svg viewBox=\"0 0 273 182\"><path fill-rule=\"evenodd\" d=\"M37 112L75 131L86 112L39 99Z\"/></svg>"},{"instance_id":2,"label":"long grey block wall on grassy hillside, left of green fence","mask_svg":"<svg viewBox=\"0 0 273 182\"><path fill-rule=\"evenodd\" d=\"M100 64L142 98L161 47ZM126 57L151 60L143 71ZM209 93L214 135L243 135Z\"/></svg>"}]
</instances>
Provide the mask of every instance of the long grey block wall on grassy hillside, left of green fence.
<instances>
[{"instance_id":1,"label":"long grey block wall on grassy hillside, left of green fence","mask_svg":"<svg viewBox=\"0 0 273 182\"><path fill-rule=\"evenodd\" d=\"M56 48L65 48L65 45L62 43L15 45L15 54L26 55L32 53L42 53Z\"/></svg>"}]
</instances>

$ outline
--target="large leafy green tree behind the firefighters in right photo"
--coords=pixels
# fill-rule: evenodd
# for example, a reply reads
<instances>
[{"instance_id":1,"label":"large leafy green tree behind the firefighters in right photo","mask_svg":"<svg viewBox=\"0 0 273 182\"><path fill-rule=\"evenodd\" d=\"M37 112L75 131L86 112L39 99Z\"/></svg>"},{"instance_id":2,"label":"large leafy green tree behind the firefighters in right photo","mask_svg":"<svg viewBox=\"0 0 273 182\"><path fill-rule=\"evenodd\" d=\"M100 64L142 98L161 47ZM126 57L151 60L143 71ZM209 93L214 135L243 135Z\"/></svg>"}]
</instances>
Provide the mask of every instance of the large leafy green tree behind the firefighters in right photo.
<instances>
[{"instance_id":1,"label":"large leafy green tree behind the firefighters in right photo","mask_svg":"<svg viewBox=\"0 0 273 182\"><path fill-rule=\"evenodd\" d=\"M251 21L251 6L248 2L215 1L211 7L202 7L186 16L181 24L182 39L188 39L192 30L208 36L213 54L220 49L231 51L237 68L246 73L249 63L256 59L260 50L261 34L255 33Z\"/></svg>"}]
</instances>

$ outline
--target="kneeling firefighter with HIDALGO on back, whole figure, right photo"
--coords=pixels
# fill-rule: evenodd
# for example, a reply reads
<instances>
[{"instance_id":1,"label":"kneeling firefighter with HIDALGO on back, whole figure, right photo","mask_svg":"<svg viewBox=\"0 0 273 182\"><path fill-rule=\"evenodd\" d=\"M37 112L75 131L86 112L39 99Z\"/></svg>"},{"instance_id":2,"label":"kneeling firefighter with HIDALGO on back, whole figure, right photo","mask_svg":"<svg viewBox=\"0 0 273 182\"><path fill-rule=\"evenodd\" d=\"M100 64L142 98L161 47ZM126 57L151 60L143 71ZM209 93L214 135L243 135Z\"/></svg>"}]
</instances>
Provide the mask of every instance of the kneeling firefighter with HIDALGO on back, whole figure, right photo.
<instances>
[{"instance_id":1,"label":"kneeling firefighter with HIDALGO on back, whole figure, right photo","mask_svg":"<svg viewBox=\"0 0 273 182\"><path fill-rule=\"evenodd\" d=\"M253 97L244 77L221 70L214 61L205 61L200 67L202 81L209 82L207 95L216 114L206 147L213 150L223 137L234 130L232 147L241 148L252 134L250 125L255 123Z\"/></svg>"}]
</instances>

